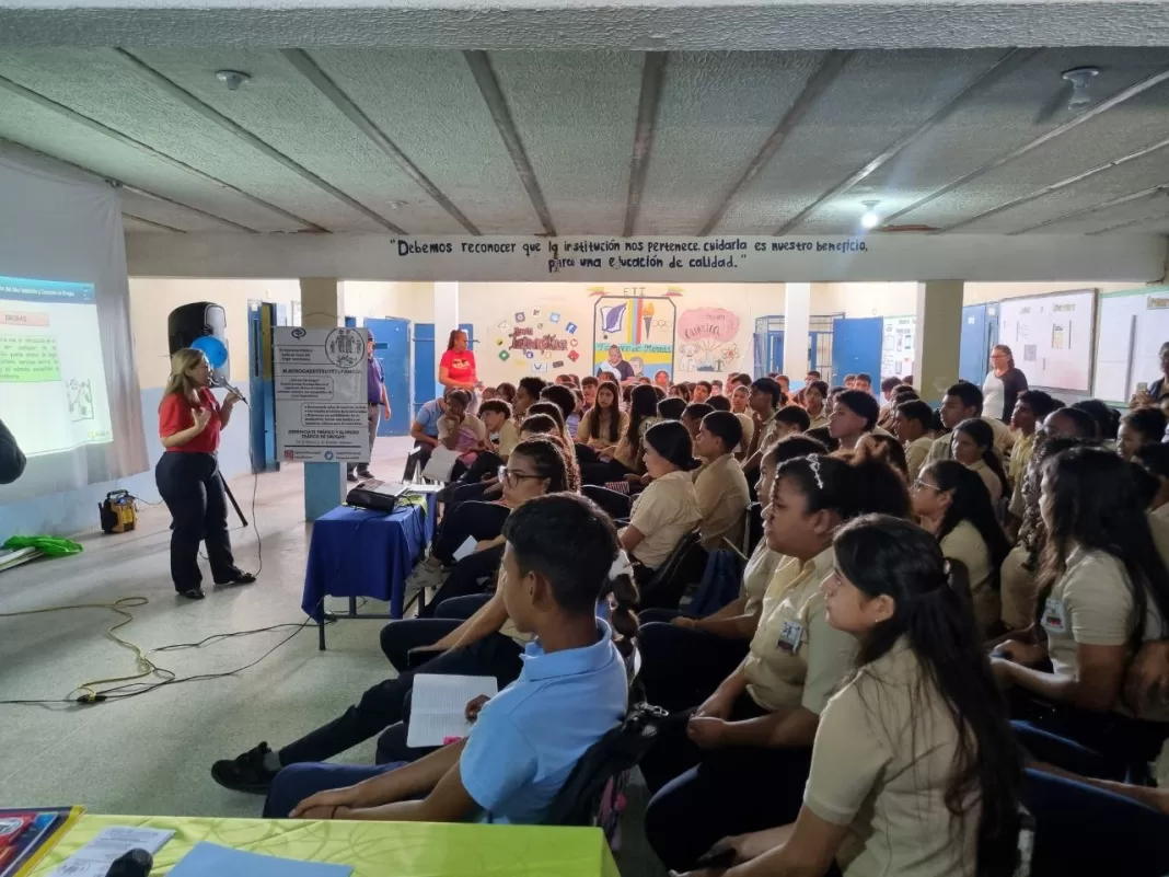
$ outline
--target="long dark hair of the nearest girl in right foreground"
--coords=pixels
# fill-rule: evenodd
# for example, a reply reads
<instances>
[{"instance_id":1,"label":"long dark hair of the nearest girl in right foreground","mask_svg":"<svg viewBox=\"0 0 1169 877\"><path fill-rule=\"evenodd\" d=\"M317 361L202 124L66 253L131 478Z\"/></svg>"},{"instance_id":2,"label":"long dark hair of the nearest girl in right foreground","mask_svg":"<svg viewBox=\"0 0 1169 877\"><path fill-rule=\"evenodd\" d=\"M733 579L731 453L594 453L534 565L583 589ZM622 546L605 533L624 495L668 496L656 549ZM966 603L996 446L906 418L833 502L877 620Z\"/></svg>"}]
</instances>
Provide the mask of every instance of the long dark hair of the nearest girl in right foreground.
<instances>
[{"instance_id":1,"label":"long dark hair of the nearest girl in right foreground","mask_svg":"<svg viewBox=\"0 0 1169 877\"><path fill-rule=\"evenodd\" d=\"M919 689L909 695L912 702L928 703L936 695L957 730L954 773L945 799L952 830L956 820L978 808L974 870L980 877L1010 877L1018 858L1022 766L1005 702L963 598L968 582L956 581L966 579L964 568L955 564L952 571L938 540L921 527L883 515L844 525L833 546L842 578L866 598L888 595L894 605L892 617L862 638L858 670L888 654L902 637L908 640L922 671ZM867 678L886 684L876 672ZM922 713L912 713L914 755L918 734L925 730L916 720Z\"/></svg>"}]
</instances>

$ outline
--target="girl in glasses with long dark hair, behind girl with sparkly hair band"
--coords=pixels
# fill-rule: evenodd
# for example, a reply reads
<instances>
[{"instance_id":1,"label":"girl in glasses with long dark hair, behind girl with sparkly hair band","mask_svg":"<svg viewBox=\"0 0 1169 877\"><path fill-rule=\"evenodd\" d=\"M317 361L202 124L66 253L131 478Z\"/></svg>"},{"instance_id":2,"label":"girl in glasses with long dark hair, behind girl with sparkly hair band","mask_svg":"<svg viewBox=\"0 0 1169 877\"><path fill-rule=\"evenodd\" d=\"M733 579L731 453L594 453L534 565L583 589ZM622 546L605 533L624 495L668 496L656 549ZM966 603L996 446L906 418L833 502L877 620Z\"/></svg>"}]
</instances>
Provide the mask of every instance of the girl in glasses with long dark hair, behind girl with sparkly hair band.
<instances>
[{"instance_id":1,"label":"girl in glasses with long dark hair, behind girl with sparkly hair band","mask_svg":"<svg viewBox=\"0 0 1169 877\"><path fill-rule=\"evenodd\" d=\"M956 460L939 460L918 476L913 511L941 543L942 554L966 567L974 620L989 640L1002 617L998 569L1011 546L995 518L985 484Z\"/></svg>"}]
</instances>

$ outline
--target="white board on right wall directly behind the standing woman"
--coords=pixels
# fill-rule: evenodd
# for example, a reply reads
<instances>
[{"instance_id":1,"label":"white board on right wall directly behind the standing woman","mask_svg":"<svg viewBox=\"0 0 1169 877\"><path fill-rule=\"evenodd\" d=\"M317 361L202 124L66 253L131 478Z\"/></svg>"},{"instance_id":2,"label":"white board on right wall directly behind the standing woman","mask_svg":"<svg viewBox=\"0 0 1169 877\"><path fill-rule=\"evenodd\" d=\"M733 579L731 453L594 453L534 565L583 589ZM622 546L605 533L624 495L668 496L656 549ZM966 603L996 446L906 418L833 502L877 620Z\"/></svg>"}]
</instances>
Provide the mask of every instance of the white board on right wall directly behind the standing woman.
<instances>
[{"instance_id":1,"label":"white board on right wall directly behind the standing woman","mask_svg":"<svg viewBox=\"0 0 1169 877\"><path fill-rule=\"evenodd\" d=\"M1031 387L1092 393L1098 295L1075 289L999 302L998 340Z\"/></svg>"}]
</instances>

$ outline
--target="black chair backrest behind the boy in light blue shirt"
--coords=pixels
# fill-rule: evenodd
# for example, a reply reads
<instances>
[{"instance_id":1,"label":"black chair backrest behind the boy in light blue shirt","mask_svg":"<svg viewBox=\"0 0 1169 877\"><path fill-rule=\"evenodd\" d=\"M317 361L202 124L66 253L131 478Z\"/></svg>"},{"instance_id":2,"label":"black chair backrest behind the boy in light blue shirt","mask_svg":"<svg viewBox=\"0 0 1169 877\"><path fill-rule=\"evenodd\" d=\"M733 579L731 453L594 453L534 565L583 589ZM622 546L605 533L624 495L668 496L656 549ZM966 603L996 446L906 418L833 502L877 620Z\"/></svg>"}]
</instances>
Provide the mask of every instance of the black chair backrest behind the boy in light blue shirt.
<instances>
[{"instance_id":1,"label":"black chair backrest behind the boy in light blue shirt","mask_svg":"<svg viewBox=\"0 0 1169 877\"><path fill-rule=\"evenodd\" d=\"M545 814L545 826L595 826L610 780L637 766L658 738L665 710L635 704L624 720L581 755Z\"/></svg>"}]
</instances>

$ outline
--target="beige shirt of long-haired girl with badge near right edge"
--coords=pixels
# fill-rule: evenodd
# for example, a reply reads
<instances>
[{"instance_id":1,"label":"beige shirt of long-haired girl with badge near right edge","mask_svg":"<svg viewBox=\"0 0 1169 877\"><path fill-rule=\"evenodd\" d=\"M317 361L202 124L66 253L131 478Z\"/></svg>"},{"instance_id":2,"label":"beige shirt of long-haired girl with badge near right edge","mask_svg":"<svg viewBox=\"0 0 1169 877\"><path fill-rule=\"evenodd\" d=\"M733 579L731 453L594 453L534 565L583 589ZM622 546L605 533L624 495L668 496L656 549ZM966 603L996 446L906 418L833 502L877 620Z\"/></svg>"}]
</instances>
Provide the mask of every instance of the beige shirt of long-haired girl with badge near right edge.
<instances>
[{"instance_id":1,"label":"beige shirt of long-haired girl with badge near right edge","mask_svg":"<svg viewBox=\"0 0 1169 877\"><path fill-rule=\"evenodd\" d=\"M1135 623L1128 573L1102 551L1077 547L1067 568L1043 606L1040 623L1047 634L1047 656L1058 676L1079 672L1077 645L1125 645ZM1161 615L1151 600L1144 614L1143 642L1161 638ZM1118 700L1116 712L1126 712Z\"/></svg>"}]
</instances>

